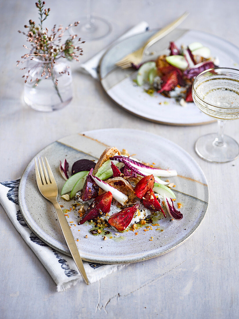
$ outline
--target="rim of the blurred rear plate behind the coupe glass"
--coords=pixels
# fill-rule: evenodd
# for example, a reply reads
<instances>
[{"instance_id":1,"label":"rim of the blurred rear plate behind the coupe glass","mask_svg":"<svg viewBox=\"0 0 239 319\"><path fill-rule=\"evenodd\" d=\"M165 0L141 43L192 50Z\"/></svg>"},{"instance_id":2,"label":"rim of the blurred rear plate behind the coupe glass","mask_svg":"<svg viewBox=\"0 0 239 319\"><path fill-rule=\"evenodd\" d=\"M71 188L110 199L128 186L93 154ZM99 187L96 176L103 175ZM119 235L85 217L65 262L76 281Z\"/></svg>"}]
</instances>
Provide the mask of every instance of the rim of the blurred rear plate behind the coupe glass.
<instances>
[{"instance_id":1,"label":"rim of the blurred rear plate behind the coupe glass","mask_svg":"<svg viewBox=\"0 0 239 319\"><path fill-rule=\"evenodd\" d=\"M149 31L159 31L161 28L153 28L153 29L150 29ZM239 47L237 47L235 44L233 44L232 42L228 41L228 40L225 40L223 38L220 38L219 36L217 35L214 35L214 34L211 34L211 33L208 33L208 32L205 32L205 31L201 31L201 30L196 30L196 29L186 29L186 28L178 28L180 30L185 30L185 31L195 31L195 32L200 32L200 33L204 33L204 34L207 34L207 35L210 35L210 36L213 36L214 38L217 38L219 40L223 40L225 41L226 43L230 44L231 46L233 46L234 48L238 49L239 50ZM158 123L158 124L164 124L164 125L171 125L171 126L198 126L198 125L205 125L205 124L211 124L211 123L214 123L216 122L216 120L211 120L211 121L207 121L207 122L200 122L200 123L170 123L170 122L162 122L162 121L158 121L158 120L154 120L154 119L150 119L148 117L145 117L145 116L142 116L142 115L139 115L129 109L127 109L126 107L124 107L123 105L119 104L118 102L116 102L109 94L108 92L105 90L103 84L102 84L102 80L103 78L101 78L101 63L105 57L105 55L108 53L109 50L111 50L113 47L115 47L116 45L118 45L120 42L123 42L124 40L126 39L129 39L129 38L132 38L136 35L139 35L139 34L143 34L143 33L147 33L149 31L144 31L144 32L140 32L140 33L136 33L134 35L131 35L123 40L119 40L119 41L116 41L115 43L113 43L103 54L103 56L101 57L100 59L100 62L99 62L99 82L100 82L100 85L103 89L103 92L109 97L109 99L111 101L113 101L117 106L119 106L120 108L122 108L123 110L127 111L128 113L130 113L131 115L136 115L138 116L139 118L141 119L144 119L146 121L150 121L150 122L153 122L153 123Z\"/></svg>"}]
</instances>

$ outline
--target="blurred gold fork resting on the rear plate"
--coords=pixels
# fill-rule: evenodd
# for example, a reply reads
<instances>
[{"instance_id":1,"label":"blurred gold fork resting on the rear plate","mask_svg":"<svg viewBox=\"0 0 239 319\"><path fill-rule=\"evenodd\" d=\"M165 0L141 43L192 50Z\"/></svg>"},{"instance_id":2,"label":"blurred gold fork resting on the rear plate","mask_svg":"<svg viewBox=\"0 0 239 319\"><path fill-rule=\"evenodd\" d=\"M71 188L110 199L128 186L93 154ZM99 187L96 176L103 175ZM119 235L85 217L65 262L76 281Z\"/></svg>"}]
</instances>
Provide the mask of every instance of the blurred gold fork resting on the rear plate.
<instances>
[{"instance_id":1,"label":"blurred gold fork resting on the rear plate","mask_svg":"<svg viewBox=\"0 0 239 319\"><path fill-rule=\"evenodd\" d=\"M138 65L142 59L147 49L158 40L162 39L165 35L173 31L180 23L183 22L184 19L189 15L188 12L183 13L181 17L170 23L168 26L160 29L156 32L145 44L139 48L137 51L134 51L127 56L123 57L120 61L116 62L116 65L122 69L130 68L132 64Z\"/></svg>"}]
</instances>

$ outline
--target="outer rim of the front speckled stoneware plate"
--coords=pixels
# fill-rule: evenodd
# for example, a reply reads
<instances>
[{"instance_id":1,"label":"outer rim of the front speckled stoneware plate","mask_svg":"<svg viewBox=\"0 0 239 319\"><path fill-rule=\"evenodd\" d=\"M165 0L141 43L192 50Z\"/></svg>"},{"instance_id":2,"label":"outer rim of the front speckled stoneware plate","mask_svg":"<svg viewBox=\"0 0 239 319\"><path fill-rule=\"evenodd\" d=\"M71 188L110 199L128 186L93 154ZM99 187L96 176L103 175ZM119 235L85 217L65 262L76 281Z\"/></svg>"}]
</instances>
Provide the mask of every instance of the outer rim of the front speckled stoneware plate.
<instances>
[{"instance_id":1,"label":"outer rim of the front speckled stoneware plate","mask_svg":"<svg viewBox=\"0 0 239 319\"><path fill-rule=\"evenodd\" d=\"M87 135L87 134L89 134L89 133L91 133L91 132L101 131L101 130L102 130L102 131L104 131L104 130L108 130L108 131L110 131L110 130L124 130L124 131L125 131L125 130L133 130L133 131L136 131L136 132L137 132L137 131L139 131L139 132L142 132L142 131L143 131L143 132L145 132L145 133L147 133L147 134L153 135L153 136L155 136L155 137L160 137L160 138L164 139L165 141L170 141L171 143L175 144L175 145L176 145L177 147L179 147L183 152L185 152L185 153L187 154L187 156L189 156L189 157L193 160L194 165L196 164L196 166L197 166L198 169L200 170L200 173L201 173L202 176L204 177L204 179L205 179L205 181L206 181L206 185L205 185L205 186L206 186L206 189L207 189L208 202L205 202L205 201L204 201L204 202L207 204L207 206L206 206L206 209L205 209L203 218L200 220L200 222L198 223L198 225L196 226L196 228L195 228L189 235L187 235L186 238L184 238L183 240L181 240L180 243L176 244L174 247L171 247L171 248L168 248L168 249L162 251L161 253L156 253L156 254L151 253L151 254L149 254L147 257L144 257L144 258L142 258L142 257L138 257L138 258L135 258L135 257L134 257L134 258L131 258L131 259L128 258L127 261L121 261L121 260L120 260L120 261L117 261L117 260L114 260L114 262L108 262L108 261L105 261L105 260L102 261L101 259L94 259L94 260L93 260L93 259L87 259L87 258L84 258L84 257L82 257L82 260L87 261L87 262L104 263L104 264L135 263L135 262L140 262L140 261L144 261L144 260L148 260L148 259L152 259L152 258L154 258L154 257L158 257L158 256L161 256L161 255L164 255L164 254L168 253L169 251L171 251L171 250L177 248L177 247L180 246L181 244L183 244L186 240L188 240L188 239L196 232L196 230L199 228L199 226L201 226L201 224L202 224L202 222L203 222L203 220L204 220L204 218L205 218L205 215L206 215L206 213L207 213L208 206L209 206L210 192L209 192L208 181L207 181L207 179L206 179L206 176L205 176L205 174L204 174L202 168L199 166L199 164L197 163L197 161L196 161L195 159L193 159L193 157L192 157L186 150L184 150L183 147L181 147L181 146L178 145L177 143L175 143L175 142L173 142L173 141L169 140L168 138L163 137L163 136L161 136L161 135L157 135L157 134L154 134L154 133L151 133L151 132L146 132L146 131L144 131L144 130L122 129L122 128L105 128L105 129L96 129L96 130L87 130L87 131L77 132L77 133L73 133L73 134L66 135L65 137L72 136L72 135L77 135L77 134L86 134L86 135ZM61 137L59 140L61 140L62 138L64 138L64 137ZM48 145L46 145L45 147L43 147L43 148L29 161L28 165L27 165L26 168L24 169L24 171L23 171L23 173L22 173L22 175L21 175L21 178L20 178L19 190L18 190L18 200L19 200L19 209L20 209L20 211L21 211L22 217L23 217L23 219L25 220L25 222L26 222L27 226L29 227L29 229L30 229L39 239L41 239L44 243L46 243L46 244L47 244L49 247L51 247L52 249L55 249L56 251L59 251L60 253L62 253L62 254L64 254L64 255L71 256L71 254L65 252L65 251L62 250L62 249L59 249L58 247L56 247L56 246L52 245L51 243L49 243L48 241L46 241L44 238L42 238L41 234L38 234L37 231L35 231L34 229L32 229L32 227L29 225L28 221L26 220L26 219L27 219L27 218L26 218L26 215L24 215L23 205L21 204L22 198L21 198L21 196L20 196L20 192L21 192L21 189L23 188L23 183L24 183L24 181L23 181L23 179L24 179L24 177L25 177L24 174L26 173L27 168L31 165L31 163L32 163L32 161L34 160L34 158L35 158L41 151L43 151L46 147L48 147L48 146L54 144L55 142L58 142L59 140L55 140L54 142L49 143Z\"/></svg>"}]
</instances>

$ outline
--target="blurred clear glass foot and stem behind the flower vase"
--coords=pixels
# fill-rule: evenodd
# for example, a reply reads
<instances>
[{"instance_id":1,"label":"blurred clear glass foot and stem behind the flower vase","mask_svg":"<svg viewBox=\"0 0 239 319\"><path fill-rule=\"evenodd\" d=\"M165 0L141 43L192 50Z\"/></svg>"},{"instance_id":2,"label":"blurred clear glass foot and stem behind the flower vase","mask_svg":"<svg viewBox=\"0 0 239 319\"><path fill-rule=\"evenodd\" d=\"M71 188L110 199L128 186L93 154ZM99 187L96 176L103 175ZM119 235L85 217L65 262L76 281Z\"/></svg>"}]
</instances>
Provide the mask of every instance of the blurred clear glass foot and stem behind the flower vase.
<instances>
[{"instance_id":1,"label":"blurred clear glass foot and stem behind the flower vase","mask_svg":"<svg viewBox=\"0 0 239 319\"><path fill-rule=\"evenodd\" d=\"M98 40L111 32L111 25L103 18L92 15L92 0L86 0L86 17L80 17L80 23L72 26L73 33L77 33L83 40Z\"/></svg>"}]
</instances>

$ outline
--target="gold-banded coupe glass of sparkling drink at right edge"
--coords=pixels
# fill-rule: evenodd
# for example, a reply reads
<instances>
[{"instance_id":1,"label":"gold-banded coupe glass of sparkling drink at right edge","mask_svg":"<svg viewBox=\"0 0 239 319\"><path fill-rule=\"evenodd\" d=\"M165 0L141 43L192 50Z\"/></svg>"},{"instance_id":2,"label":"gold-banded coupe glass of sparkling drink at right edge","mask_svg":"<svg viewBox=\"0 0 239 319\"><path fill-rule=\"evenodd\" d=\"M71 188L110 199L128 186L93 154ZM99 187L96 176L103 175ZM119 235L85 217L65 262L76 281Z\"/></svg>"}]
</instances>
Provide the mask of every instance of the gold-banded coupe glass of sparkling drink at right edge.
<instances>
[{"instance_id":1,"label":"gold-banded coupe glass of sparkling drink at right edge","mask_svg":"<svg viewBox=\"0 0 239 319\"><path fill-rule=\"evenodd\" d=\"M218 133L199 137L195 150L209 162L226 163L236 159L239 145L223 134L225 121L239 118L239 70L214 68L205 70L194 79L192 98L205 114L218 120Z\"/></svg>"}]
</instances>

